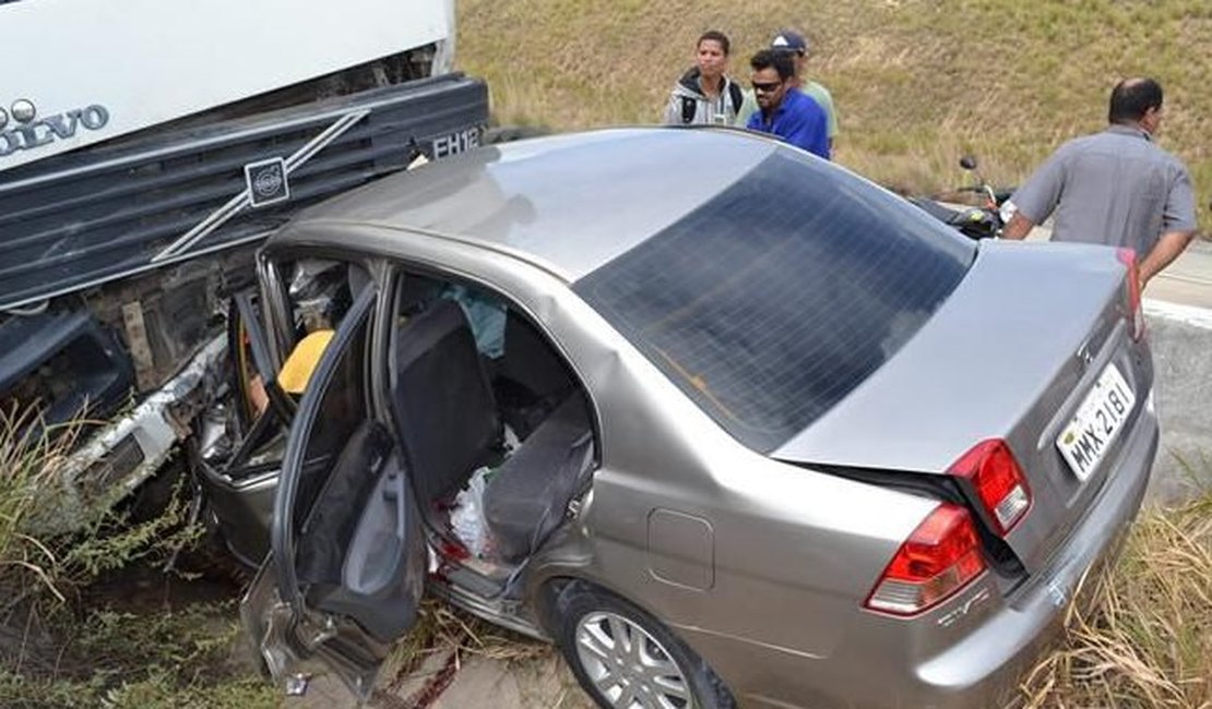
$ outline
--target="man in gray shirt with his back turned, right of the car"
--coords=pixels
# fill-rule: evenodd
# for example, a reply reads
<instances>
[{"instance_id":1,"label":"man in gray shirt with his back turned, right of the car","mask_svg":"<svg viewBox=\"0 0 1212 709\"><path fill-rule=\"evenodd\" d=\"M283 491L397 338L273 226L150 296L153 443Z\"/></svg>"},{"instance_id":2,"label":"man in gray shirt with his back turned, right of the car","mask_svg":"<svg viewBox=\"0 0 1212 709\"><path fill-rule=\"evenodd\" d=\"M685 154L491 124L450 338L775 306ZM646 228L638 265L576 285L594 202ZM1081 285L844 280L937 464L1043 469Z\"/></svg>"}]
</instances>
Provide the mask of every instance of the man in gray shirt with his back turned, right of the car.
<instances>
[{"instance_id":1,"label":"man in gray shirt with his back turned, right of the car","mask_svg":"<svg viewBox=\"0 0 1212 709\"><path fill-rule=\"evenodd\" d=\"M1195 236L1195 195L1187 167L1153 142L1161 100L1153 79L1119 82L1110 127L1062 145L1014 192L1002 237L1025 237L1054 211L1053 241L1136 249L1142 288L1178 258Z\"/></svg>"}]
</instances>

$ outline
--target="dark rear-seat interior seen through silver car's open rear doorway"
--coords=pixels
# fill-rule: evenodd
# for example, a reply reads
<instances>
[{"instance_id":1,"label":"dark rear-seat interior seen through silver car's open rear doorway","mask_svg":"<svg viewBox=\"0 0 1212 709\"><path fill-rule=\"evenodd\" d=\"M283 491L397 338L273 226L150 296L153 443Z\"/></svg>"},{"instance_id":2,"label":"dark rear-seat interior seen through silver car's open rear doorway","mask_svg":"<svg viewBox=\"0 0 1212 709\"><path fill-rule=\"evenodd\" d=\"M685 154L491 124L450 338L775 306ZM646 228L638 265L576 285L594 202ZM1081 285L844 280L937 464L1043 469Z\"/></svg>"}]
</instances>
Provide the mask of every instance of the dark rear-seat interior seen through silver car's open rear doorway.
<instances>
[{"instance_id":1,"label":"dark rear-seat interior seen through silver car's open rear doorway","mask_svg":"<svg viewBox=\"0 0 1212 709\"><path fill-rule=\"evenodd\" d=\"M487 353L478 347L492 338L474 332L475 306L501 311L478 318L499 329L497 357L491 345ZM406 276L398 313L390 403L415 490L442 538L456 541L445 534L453 531L450 513L484 474L480 560L519 564L588 483L594 438L584 394L538 329L484 292Z\"/></svg>"}]
</instances>

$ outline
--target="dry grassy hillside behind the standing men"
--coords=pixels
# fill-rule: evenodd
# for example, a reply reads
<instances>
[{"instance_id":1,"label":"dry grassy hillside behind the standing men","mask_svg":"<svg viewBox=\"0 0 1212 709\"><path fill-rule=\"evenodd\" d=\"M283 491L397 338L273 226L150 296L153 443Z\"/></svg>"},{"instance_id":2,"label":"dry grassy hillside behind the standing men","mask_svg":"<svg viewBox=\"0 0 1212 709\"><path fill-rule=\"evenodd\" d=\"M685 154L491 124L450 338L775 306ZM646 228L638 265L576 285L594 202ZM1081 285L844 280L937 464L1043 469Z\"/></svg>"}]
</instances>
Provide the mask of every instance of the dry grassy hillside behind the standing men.
<instances>
[{"instance_id":1,"label":"dry grassy hillside behind the standing men","mask_svg":"<svg viewBox=\"0 0 1212 709\"><path fill-rule=\"evenodd\" d=\"M965 151L1018 183L1105 123L1119 77L1153 75L1167 91L1160 142L1212 219L1206 0L461 0L459 22L461 64L490 81L498 119L554 129L654 121L704 29L733 39L748 83L748 57L797 28L839 106L839 162L917 191L964 181Z\"/></svg>"}]
</instances>

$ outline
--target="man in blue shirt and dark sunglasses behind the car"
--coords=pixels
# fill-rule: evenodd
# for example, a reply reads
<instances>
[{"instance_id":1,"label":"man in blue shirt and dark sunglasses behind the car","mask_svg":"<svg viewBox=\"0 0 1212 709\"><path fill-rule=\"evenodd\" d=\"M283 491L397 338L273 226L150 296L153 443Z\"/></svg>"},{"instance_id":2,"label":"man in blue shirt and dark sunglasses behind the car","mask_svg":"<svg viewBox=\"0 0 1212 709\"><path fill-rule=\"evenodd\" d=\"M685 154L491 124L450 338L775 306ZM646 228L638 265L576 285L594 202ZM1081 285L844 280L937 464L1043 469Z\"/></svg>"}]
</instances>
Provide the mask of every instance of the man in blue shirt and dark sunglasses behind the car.
<instances>
[{"instance_id":1,"label":"man in blue shirt and dark sunglasses behind the car","mask_svg":"<svg viewBox=\"0 0 1212 709\"><path fill-rule=\"evenodd\" d=\"M749 59L758 108L745 125L829 160L829 119L811 97L791 88L795 64L783 52L762 50Z\"/></svg>"}]
</instances>

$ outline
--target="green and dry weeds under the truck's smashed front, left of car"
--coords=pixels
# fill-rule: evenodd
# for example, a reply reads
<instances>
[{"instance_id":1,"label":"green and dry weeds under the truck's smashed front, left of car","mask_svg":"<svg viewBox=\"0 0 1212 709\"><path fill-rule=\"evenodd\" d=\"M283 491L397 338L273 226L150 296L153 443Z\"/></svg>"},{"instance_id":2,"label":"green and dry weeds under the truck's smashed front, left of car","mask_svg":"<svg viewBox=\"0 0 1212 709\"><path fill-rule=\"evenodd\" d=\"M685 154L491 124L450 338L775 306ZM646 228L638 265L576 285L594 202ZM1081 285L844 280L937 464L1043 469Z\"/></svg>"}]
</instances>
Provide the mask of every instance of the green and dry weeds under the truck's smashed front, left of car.
<instances>
[{"instance_id":1,"label":"green and dry weeds under the truck's smashed front, left of car","mask_svg":"<svg viewBox=\"0 0 1212 709\"><path fill-rule=\"evenodd\" d=\"M181 496L143 514L61 484L90 426L0 411L0 707L276 707L239 652L239 587L166 575L200 541Z\"/></svg>"}]
</instances>

